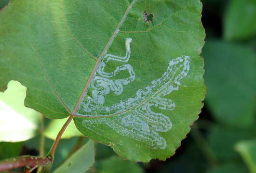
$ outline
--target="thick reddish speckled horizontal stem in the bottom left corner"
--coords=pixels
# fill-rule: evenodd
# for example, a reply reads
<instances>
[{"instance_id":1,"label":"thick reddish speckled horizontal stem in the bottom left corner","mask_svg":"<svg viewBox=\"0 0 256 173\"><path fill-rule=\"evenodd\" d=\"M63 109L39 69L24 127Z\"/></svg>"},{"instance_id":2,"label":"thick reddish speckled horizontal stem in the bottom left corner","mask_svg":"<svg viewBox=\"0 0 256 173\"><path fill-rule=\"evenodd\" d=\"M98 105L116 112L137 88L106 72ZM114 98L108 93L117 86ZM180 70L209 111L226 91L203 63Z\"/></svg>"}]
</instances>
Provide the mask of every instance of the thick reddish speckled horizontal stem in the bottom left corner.
<instances>
[{"instance_id":1,"label":"thick reddish speckled horizontal stem in the bottom left corner","mask_svg":"<svg viewBox=\"0 0 256 173\"><path fill-rule=\"evenodd\" d=\"M35 166L46 166L51 165L53 158L46 157L35 157L35 156L21 156L12 159L6 159L0 161L0 172L7 171L14 168L20 168L24 166L35 167Z\"/></svg>"}]
</instances>

